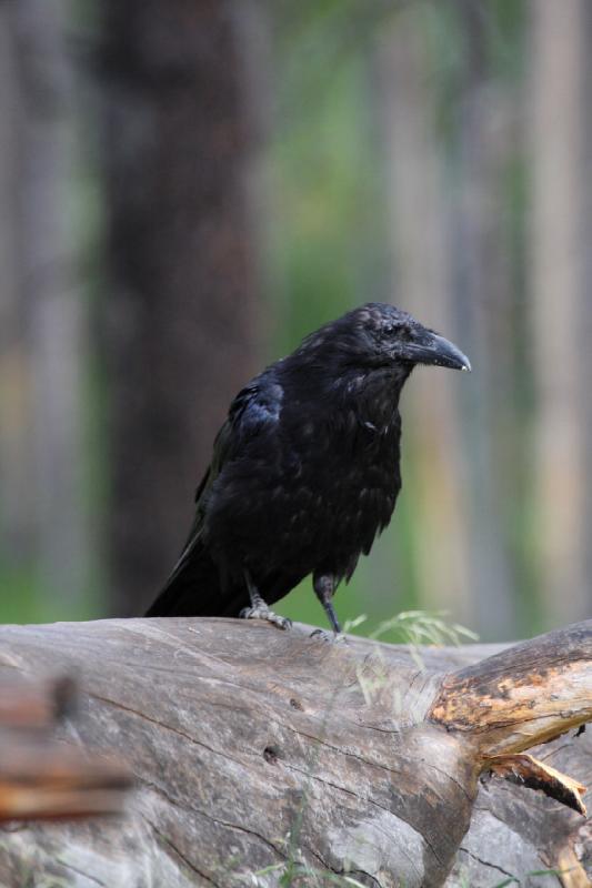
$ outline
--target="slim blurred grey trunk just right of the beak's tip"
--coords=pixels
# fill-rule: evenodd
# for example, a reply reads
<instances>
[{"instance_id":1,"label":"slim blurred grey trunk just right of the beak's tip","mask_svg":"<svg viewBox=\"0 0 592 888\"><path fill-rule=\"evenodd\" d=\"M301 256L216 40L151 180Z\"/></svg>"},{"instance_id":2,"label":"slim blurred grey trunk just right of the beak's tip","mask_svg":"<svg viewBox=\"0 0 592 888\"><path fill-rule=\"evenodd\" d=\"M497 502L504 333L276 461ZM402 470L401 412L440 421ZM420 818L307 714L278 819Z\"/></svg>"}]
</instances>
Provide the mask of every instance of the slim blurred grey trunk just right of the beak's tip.
<instances>
[{"instance_id":1,"label":"slim blurred grey trunk just right of the beak's tip","mask_svg":"<svg viewBox=\"0 0 592 888\"><path fill-rule=\"evenodd\" d=\"M463 431L471 442L466 485L471 514L471 571L476 628L486 638L515 630L514 578L510 557L508 503L514 478L504 453L514 390L513 281L503 231L503 184L512 138L508 93L495 83L490 59L488 10L479 0L459 0L462 40L458 118L459 188L449 231L462 345L473 362L471 397ZM514 437L514 443L516 437Z\"/></svg>"}]
</instances>

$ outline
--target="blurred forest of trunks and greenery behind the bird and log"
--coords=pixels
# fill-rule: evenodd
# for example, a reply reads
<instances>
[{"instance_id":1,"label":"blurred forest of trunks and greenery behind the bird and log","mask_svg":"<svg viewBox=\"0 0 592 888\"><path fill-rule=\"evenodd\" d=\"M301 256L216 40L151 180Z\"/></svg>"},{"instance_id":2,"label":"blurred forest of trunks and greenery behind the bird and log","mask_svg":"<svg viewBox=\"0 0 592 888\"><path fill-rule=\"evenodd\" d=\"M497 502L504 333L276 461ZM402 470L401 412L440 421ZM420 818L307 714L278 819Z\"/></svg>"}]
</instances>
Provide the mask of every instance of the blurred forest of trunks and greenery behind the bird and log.
<instances>
[{"instance_id":1,"label":"blurred forest of trunks and greenery behind the bird and log","mask_svg":"<svg viewBox=\"0 0 592 888\"><path fill-rule=\"evenodd\" d=\"M0 620L141 614L233 394L374 300L473 373L340 616L590 616L591 94L586 0L0 0Z\"/></svg>"}]
</instances>

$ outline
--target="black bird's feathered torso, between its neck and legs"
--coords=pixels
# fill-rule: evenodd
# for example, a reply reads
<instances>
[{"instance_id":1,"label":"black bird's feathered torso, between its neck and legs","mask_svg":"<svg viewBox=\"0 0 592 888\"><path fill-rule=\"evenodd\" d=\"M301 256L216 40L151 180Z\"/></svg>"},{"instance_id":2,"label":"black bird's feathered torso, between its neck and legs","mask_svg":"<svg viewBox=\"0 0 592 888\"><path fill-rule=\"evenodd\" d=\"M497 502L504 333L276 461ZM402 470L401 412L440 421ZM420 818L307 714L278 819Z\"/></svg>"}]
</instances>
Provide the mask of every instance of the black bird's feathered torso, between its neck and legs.
<instances>
[{"instance_id":1,"label":"black bird's feathered torso, between its neck and legs","mask_svg":"<svg viewBox=\"0 0 592 888\"><path fill-rule=\"evenodd\" d=\"M314 569L322 555L348 574L395 505L397 410L360 412L341 404L303 413L293 398L282 403L278 391L265 400L259 393L243 397L235 427L241 447L212 485L207 536L238 557L249 552L251 561L270 565L298 557Z\"/></svg>"}]
</instances>

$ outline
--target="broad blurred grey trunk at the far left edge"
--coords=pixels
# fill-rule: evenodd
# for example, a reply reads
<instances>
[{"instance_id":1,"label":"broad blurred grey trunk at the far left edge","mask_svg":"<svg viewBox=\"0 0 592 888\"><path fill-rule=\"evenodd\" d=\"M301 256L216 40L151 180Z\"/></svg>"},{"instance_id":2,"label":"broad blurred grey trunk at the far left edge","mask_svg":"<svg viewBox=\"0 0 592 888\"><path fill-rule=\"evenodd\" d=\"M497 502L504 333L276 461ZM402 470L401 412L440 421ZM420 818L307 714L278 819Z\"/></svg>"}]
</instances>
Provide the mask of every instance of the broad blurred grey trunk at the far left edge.
<instances>
[{"instance_id":1,"label":"broad blurred grey trunk at the far left edge","mask_svg":"<svg viewBox=\"0 0 592 888\"><path fill-rule=\"evenodd\" d=\"M80 294L69 226L73 109L63 0L0 6L0 472L12 566L48 601L87 566Z\"/></svg>"}]
</instances>

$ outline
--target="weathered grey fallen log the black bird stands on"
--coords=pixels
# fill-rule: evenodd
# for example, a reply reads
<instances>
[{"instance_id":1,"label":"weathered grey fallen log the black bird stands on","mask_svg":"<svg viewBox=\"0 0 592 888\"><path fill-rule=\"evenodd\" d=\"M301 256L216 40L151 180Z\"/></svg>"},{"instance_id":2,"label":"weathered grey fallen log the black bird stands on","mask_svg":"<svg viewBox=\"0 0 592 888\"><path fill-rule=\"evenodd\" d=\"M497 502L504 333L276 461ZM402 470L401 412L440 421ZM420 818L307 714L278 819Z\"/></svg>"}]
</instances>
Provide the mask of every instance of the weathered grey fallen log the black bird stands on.
<instances>
[{"instance_id":1,"label":"weathered grey fallen log the black bird stands on","mask_svg":"<svg viewBox=\"0 0 592 888\"><path fill-rule=\"evenodd\" d=\"M590 885L592 622L421 660L230 619L0 627L0 669L76 676L62 739L138 783L123 818L7 826L0 884Z\"/></svg>"}]
</instances>

